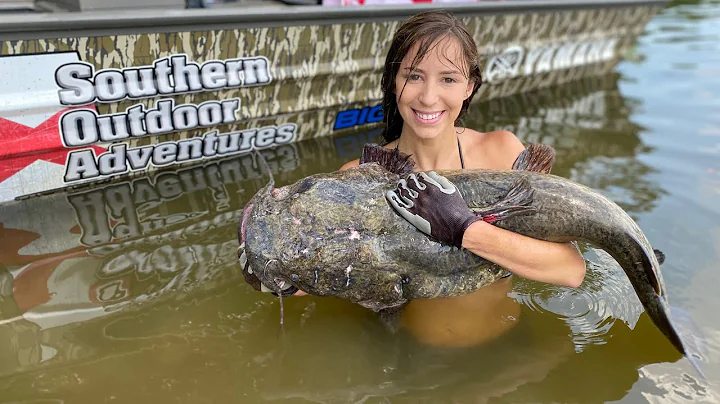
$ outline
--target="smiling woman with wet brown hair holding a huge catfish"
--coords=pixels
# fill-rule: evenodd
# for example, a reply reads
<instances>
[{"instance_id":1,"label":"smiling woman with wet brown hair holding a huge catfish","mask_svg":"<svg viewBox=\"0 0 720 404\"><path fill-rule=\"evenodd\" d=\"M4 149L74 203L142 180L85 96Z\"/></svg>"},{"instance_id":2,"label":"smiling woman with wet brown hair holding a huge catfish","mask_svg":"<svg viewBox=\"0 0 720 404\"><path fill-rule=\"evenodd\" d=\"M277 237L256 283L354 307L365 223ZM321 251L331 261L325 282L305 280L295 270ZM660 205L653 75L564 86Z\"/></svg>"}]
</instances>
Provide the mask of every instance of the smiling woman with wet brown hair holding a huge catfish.
<instances>
[{"instance_id":1,"label":"smiling woman with wet brown hair holding a huge catfish","mask_svg":"<svg viewBox=\"0 0 720 404\"><path fill-rule=\"evenodd\" d=\"M510 169L524 150L514 134L456 126L481 83L477 46L464 24L442 11L415 15L396 32L385 61L385 147L412 155L415 170L421 172ZM424 231L436 239L464 247L520 277L577 287L585 276L585 260L573 244L540 241L477 220L457 192L447 195L408 180L398 184L390 199L403 216L418 219L411 222L419 229L425 222L429 228ZM494 339L514 325L512 319L520 312L507 296L510 288L506 278L459 298L414 300L403 324L421 341L436 345Z\"/></svg>"}]
</instances>

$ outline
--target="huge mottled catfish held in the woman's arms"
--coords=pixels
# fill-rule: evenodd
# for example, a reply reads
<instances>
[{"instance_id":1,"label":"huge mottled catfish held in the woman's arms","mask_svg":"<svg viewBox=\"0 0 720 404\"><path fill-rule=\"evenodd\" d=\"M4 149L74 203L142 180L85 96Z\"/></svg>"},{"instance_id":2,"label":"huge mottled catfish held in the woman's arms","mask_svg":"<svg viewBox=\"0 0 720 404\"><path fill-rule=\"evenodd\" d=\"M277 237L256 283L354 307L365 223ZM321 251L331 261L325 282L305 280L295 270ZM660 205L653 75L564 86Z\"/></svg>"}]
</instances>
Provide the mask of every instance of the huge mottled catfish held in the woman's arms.
<instances>
[{"instance_id":1,"label":"huge mottled catfish held in the woman's arms","mask_svg":"<svg viewBox=\"0 0 720 404\"><path fill-rule=\"evenodd\" d=\"M600 193L549 174L554 150L530 145L512 170L437 171L468 207L495 225L540 240L583 241L623 268L648 315L681 353L653 250L630 216ZM409 156L367 145L359 167L258 191L239 226L238 256L255 289L288 296L298 289L380 311L411 299L460 296L507 271L470 251L432 240L386 200Z\"/></svg>"}]
</instances>

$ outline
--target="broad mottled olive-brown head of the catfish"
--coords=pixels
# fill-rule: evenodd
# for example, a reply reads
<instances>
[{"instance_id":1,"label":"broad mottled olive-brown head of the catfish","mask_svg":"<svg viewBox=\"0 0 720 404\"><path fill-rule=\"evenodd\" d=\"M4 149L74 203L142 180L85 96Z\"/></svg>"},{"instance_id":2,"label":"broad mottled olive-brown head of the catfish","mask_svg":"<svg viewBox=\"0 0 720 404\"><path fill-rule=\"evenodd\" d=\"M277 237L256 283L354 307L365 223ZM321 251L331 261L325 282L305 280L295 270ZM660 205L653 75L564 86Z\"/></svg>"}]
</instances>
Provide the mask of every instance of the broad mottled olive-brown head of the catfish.
<instances>
[{"instance_id":1,"label":"broad mottled olive-brown head of the catfish","mask_svg":"<svg viewBox=\"0 0 720 404\"><path fill-rule=\"evenodd\" d=\"M377 252L384 229L405 225L384 196L396 178L369 165L258 192L238 234L246 281L256 290L299 289L373 310L405 303L403 273L387 270L395 264Z\"/></svg>"}]
</instances>

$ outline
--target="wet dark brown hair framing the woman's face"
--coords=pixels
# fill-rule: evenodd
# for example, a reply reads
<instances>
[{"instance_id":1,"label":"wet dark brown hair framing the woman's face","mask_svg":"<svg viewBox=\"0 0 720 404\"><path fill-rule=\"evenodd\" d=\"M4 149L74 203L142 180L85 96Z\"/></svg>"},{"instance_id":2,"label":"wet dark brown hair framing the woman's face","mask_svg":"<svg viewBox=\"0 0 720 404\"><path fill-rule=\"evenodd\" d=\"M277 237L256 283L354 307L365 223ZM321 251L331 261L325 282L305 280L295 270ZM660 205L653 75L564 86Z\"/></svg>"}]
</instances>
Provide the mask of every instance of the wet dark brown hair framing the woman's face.
<instances>
[{"instance_id":1,"label":"wet dark brown hair framing the woman's face","mask_svg":"<svg viewBox=\"0 0 720 404\"><path fill-rule=\"evenodd\" d=\"M387 57L385 58L385 70L383 71L381 87L383 91L383 139L390 143L400 137L403 127L403 119L397 108L395 90L395 77L400 65L410 49L418 44L418 53L412 61L411 67L415 68L423 60L425 55L432 50L431 46L443 39L455 39L460 44L465 66L456 66L460 71L466 73L470 82L474 82L473 91L470 97L463 102L460 114L455 123L467 112L475 93L482 85L480 66L478 64L478 51L475 40L465 28L465 24L454 15L442 11L431 10L418 13L407 20L395 33ZM446 59L454 64L446 56ZM407 84L407 82L406 82ZM403 86L403 90L405 86ZM402 95L402 91L400 92Z\"/></svg>"}]
</instances>

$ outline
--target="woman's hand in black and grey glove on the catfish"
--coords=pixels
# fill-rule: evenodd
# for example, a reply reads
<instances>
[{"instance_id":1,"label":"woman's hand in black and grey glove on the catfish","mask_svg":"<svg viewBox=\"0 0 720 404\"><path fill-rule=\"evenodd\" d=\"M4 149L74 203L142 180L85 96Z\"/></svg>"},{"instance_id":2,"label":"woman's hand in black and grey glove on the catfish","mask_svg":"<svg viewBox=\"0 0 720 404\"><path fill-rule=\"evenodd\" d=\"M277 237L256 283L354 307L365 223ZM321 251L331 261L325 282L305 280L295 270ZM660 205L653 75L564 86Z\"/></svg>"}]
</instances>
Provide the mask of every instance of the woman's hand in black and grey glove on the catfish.
<instances>
[{"instance_id":1,"label":"woman's hand in black and grey glove on the catfish","mask_svg":"<svg viewBox=\"0 0 720 404\"><path fill-rule=\"evenodd\" d=\"M418 230L458 248L465 230L482 220L467 207L455 185L434 171L408 175L385 197Z\"/></svg>"}]
</instances>

